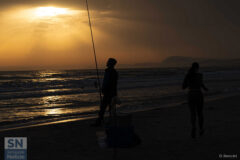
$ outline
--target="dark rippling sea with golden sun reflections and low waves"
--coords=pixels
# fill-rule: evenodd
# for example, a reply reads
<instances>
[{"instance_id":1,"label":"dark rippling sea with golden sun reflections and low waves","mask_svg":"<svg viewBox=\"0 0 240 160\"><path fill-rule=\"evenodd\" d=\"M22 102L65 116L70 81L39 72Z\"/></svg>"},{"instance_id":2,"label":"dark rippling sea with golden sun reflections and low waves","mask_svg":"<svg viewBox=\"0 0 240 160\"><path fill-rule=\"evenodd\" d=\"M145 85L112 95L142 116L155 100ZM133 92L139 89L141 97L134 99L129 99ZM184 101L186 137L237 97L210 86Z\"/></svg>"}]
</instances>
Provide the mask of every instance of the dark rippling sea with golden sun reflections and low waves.
<instances>
[{"instance_id":1,"label":"dark rippling sea with golden sun reflections and low waves","mask_svg":"<svg viewBox=\"0 0 240 160\"><path fill-rule=\"evenodd\" d=\"M119 113L187 103L187 68L118 69ZM239 68L203 68L205 101L240 94ZM100 70L102 81L104 69ZM96 117L100 98L94 69L0 71L0 130Z\"/></svg>"}]
</instances>

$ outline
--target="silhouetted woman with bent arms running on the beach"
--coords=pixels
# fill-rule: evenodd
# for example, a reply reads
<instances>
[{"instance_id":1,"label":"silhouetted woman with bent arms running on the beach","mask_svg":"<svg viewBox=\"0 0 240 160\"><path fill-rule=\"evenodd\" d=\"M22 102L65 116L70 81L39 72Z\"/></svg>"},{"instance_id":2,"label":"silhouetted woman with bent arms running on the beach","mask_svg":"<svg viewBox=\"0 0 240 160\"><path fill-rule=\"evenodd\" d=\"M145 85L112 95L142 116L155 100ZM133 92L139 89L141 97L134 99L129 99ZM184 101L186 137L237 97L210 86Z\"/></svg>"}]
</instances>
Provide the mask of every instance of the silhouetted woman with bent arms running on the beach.
<instances>
[{"instance_id":1,"label":"silhouetted woman with bent arms running on the beach","mask_svg":"<svg viewBox=\"0 0 240 160\"><path fill-rule=\"evenodd\" d=\"M198 117L199 123L199 134L204 134L204 117L203 117L203 104L204 97L201 89L208 91L207 87L203 83L203 75L199 73L199 64L193 63L192 67L189 69L186 75L183 85L183 89L189 88L188 92L188 105L191 113L191 123L192 123L192 138L196 137L196 117Z\"/></svg>"}]
</instances>

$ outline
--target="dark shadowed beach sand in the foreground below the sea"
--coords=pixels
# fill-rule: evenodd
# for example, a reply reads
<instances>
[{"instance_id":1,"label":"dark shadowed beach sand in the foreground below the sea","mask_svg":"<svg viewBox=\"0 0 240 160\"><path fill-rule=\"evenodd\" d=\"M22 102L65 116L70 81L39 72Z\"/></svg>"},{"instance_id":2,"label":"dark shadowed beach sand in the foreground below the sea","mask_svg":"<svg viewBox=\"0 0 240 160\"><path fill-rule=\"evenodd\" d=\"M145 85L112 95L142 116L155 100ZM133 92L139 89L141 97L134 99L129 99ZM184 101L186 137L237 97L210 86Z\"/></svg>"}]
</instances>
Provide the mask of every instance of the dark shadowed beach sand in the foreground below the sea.
<instances>
[{"instance_id":1,"label":"dark shadowed beach sand in the foreground below the sea","mask_svg":"<svg viewBox=\"0 0 240 160\"><path fill-rule=\"evenodd\" d=\"M240 96L208 102L205 105L206 133L190 138L189 112L186 105L133 115L142 144L118 149L121 160L216 160L219 154L240 159ZM4 137L28 137L29 160L110 160L113 149L101 149L93 120L76 121L0 132L3 159Z\"/></svg>"}]
</instances>

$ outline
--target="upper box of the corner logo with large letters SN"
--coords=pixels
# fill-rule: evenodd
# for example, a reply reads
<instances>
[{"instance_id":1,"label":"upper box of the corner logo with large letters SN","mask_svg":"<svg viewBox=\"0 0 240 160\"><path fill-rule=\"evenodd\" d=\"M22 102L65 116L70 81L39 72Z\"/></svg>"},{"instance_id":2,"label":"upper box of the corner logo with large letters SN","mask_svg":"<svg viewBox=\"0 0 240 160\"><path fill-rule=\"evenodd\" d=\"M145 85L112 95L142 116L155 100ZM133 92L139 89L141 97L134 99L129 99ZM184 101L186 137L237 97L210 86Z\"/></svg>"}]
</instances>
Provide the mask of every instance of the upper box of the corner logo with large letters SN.
<instances>
[{"instance_id":1,"label":"upper box of the corner logo with large letters SN","mask_svg":"<svg viewBox=\"0 0 240 160\"><path fill-rule=\"evenodd\" d=\"M5 149L27 149L26 137L5 137Z\"/></svg>"}]
</instances>

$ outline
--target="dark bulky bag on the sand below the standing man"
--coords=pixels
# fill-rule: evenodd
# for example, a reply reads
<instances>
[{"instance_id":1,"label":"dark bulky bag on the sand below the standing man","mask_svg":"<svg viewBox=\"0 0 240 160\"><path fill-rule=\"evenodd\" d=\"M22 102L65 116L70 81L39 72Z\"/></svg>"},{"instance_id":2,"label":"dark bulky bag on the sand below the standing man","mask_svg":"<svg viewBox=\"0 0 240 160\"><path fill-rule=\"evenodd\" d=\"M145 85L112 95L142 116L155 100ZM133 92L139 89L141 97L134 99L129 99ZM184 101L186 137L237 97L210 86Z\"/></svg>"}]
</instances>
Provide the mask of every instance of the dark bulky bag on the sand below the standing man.
<instances>
[{"instance_id":1,"label":"dark bulky bag on the sand below the standing man","mask_svg":"<svg viewBox=\"0 0 240 160\"><path fill-rule=\"evenodd\" d=\"M131 115L117 116L115 121L111 121L106 126L107 146L128 148L134 147L141 143L139 136L134 132L131 125Z\"/></svg>"}]
</instances>

